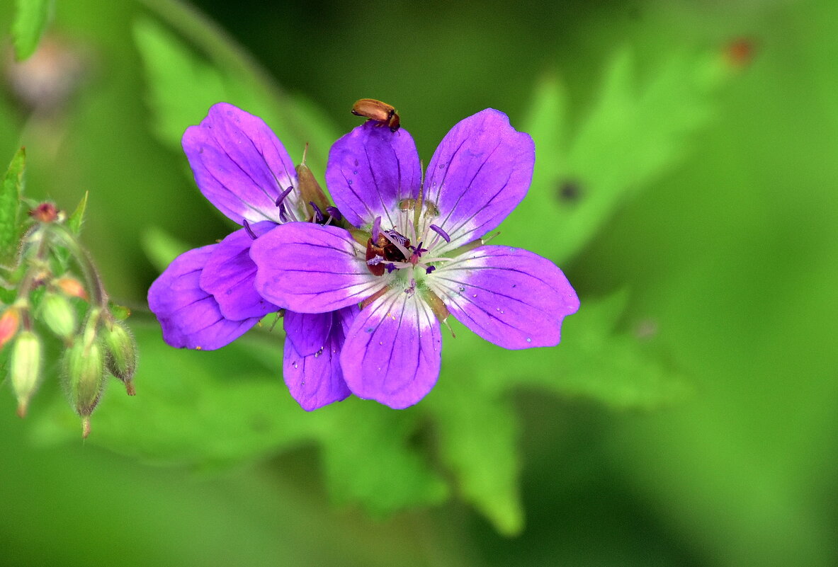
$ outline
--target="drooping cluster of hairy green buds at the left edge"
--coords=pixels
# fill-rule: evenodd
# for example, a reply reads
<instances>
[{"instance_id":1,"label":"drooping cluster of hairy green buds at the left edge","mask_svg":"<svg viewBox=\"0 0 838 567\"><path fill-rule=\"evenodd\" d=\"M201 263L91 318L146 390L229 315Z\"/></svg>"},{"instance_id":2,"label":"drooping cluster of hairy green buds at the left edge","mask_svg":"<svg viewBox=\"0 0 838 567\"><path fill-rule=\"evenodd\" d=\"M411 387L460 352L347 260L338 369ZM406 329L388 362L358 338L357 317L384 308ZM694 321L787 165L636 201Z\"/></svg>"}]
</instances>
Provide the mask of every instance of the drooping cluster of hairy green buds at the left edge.
<instances>
[{"instance_id":1,"label":"drooping cluster of hairy green buds at the left edge","mask_svg":"<svg viewBox=\"0 0 838 567\"><path fill-rule=\"evenodd\" d=\"M23 417L44 368L54 367L44 360L45 343L57 340L65 392L87 436L110 375L129 395L135 393L137 344L115 317L120 310L112 309L96 266L80 245L80 219L74 227L49 203L32 209L29 219L13 265L0 265L0 282L12 290L0 296L0 360L7 361L0 368L8 371Z\"/></svg>"}]
</instances>

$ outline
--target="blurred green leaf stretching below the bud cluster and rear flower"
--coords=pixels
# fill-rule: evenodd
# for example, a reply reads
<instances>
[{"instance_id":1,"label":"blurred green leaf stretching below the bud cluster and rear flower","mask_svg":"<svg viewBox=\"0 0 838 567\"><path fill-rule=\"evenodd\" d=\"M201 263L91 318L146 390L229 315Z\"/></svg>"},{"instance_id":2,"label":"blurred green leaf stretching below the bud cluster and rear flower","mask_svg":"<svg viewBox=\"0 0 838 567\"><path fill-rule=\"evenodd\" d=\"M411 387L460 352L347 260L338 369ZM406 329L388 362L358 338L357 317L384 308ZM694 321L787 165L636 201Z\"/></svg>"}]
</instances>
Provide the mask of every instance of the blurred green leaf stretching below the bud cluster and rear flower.
<instances>
[{"instance_id":1,"label":"blurred green leaf stretching below the bud cluster and rear flower","mask_svg":"<svg viewBox=\"0 0 838 567\"><path fill-rule=\"evenodd\" d=\"M223 350L199 352L169 347L157 325L132 330L142 354L137 395L111 380L86 442L142 461L204 468L317 443L338 503L382 515L447 498L446 483L412 442L416 410L348 399L306 412L282 382L277 340L251 333ZM35 435L54 442L76 439L79 431L62 399L41 415Z\"/></svg>"}]
</instances>

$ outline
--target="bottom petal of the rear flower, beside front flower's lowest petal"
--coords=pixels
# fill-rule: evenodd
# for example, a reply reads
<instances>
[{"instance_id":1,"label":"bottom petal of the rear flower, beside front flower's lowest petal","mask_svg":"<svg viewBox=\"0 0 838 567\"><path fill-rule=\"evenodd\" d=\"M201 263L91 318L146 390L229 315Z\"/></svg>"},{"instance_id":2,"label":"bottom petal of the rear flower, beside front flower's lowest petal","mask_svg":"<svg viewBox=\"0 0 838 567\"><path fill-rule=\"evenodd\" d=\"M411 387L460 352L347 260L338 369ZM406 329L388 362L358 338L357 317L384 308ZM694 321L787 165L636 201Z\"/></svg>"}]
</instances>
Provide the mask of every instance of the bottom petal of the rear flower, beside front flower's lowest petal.
<instances>
[{"instance_id":1,"label":"bottom petal of the rear flower, beside front flower's lowest petal","mask_svg":"<svg viewBox=\"0 0 838 567\"><path fill-rule=\"evenodd\" d=\"M358 307L344 307L339 311L324 313L328 317L328 338L318 350L302 356L292 341L286 340L282 357L282 378L293 399L303 410L317 410L323 405L346 399L352 392L344 382L340 369L340 350L349 324L358 313ZM286 312L286 325L288 315ZM307 316L313 317L313 316ZM289 332L286 326L286 332ZM289 332L289 338L291 334Z\"/></svg>"}]
</instances>

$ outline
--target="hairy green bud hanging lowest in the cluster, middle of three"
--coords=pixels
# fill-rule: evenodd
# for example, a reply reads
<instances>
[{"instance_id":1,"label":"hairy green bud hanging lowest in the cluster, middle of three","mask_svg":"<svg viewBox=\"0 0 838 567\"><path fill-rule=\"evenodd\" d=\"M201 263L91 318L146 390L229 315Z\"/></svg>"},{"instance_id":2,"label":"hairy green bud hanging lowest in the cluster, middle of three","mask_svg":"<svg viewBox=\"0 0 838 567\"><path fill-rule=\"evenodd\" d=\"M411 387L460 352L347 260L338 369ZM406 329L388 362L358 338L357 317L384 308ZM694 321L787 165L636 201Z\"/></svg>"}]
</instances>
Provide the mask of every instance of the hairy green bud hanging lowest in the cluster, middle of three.
<instances>
[{"instance_id":1,"label":"hairy green bud hanging lowest in the cluster, middle of three","mask_svg":"<svg viewBox=\"0 0 838 567\"><path fill-rule=\"evenodd\" d=\"M77 338L64 355L64 372L70 404L81 417L96 409L105 387L105 353L98 340Z\"/></svg>"}]
</instances>

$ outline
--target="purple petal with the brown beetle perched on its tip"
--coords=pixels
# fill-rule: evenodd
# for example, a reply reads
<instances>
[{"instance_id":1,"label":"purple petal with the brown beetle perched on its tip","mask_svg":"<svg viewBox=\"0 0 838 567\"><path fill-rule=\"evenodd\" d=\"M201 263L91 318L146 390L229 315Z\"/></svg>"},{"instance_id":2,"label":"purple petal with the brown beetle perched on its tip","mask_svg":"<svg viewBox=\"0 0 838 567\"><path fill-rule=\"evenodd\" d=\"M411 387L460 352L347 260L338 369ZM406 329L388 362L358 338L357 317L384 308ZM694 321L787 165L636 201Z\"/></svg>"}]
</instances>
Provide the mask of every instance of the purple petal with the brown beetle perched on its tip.
<instances>
[{"instance_id":1,"label":"purple petal with the brown beetle perched on its tip","mask_svg":"<svg viewBox=\"0 0 838 567\"><path fill-rule=\"evenodd\" d=\"M326 185L334 204L357 227L380 216L385 227L398 224L393 214L405 198L416 198L422 183L419 154L411 135L368 121L334 142L328 152Z\"/></svg>"}]
</instances>

